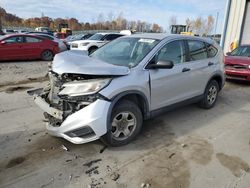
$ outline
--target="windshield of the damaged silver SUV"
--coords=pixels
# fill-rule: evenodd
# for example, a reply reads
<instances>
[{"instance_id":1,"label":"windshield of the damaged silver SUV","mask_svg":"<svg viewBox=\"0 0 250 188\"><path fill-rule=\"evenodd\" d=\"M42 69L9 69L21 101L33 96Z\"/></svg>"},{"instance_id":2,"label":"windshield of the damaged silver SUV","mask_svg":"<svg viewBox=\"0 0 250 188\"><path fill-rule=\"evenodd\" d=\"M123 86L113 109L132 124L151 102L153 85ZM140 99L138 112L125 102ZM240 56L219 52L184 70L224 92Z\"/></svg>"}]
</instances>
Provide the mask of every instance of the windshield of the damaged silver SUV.
<instances>
[{"instance_id":1,"label":"windshield of the damaged silver SUV","mask_svg":"<svg viewBox=\"0 0 250 188\"><path fill-rule=\"evenodd\" d=\"M135 67L158 42L156 39L119 38L99 48L90 57L113 65Z\"/></svg>"}]
</instances>

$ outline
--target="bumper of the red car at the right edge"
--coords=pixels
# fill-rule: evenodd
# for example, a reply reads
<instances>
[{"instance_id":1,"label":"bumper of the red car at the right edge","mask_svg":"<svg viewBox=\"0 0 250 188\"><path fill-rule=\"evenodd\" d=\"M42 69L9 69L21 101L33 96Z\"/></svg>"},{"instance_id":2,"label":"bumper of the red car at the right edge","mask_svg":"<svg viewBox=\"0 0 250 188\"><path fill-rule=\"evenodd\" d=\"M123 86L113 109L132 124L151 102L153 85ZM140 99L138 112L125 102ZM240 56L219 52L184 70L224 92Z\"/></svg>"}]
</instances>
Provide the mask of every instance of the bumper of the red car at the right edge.
<instances>
[{"instance_id":1,"label":"bumper of the red car at the right edge","mask_svg":"<svg viewBox=\"0 0 250 188\"><path fill-rule=\"evenodd\" d=\"M227 79L250 81L250 69L246 70L225 69L225 72Z\"/></svg>"}]
</instances>

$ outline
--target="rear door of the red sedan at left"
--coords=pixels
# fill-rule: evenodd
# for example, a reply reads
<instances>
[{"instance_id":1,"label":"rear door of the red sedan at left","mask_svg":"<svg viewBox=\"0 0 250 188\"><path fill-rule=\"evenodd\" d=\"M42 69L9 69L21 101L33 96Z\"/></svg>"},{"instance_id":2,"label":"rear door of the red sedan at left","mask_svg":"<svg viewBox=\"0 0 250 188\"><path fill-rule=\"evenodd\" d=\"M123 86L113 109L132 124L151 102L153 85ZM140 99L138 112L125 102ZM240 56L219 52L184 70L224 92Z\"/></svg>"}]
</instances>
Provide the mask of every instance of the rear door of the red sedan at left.
<instances>
[{"instance_id":1,"label":"rear door of the red sedan at left","mask_svg":"<svg viewBox=\"0 0 250 188\"><path fill-rule=\"evenodd\" d=\"M23 51L28 59L39 58L43 49L43 39L34 36L25 36Z\"/></svg>"}]
</instances>

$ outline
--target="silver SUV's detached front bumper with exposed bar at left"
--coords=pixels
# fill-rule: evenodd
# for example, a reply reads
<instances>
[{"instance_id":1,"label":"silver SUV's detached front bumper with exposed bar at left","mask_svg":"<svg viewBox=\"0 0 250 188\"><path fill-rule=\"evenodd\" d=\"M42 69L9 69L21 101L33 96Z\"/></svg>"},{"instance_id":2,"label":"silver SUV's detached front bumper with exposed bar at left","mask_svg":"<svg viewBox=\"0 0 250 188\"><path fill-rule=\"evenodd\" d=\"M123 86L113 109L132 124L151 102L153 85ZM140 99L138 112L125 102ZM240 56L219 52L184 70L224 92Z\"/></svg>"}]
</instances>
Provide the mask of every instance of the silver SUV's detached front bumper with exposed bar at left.
<instances>
[{"instance_id":1,"label":"silver SUV's detached front bumper with exposed bar at left","mask_svg":"<svg viewBox=\"0 0 250 188\"><path fill-rule=\"evenodd\" d=\"M35 97L36 104L49 115L62 120L62 111L50 107L42 97ZM62 137L74 144L99 139L107 132L107 116L110 102L98 99L81 110L69 115L60 126L47 123L49 134Z\"/></svg>"}]
</instances>

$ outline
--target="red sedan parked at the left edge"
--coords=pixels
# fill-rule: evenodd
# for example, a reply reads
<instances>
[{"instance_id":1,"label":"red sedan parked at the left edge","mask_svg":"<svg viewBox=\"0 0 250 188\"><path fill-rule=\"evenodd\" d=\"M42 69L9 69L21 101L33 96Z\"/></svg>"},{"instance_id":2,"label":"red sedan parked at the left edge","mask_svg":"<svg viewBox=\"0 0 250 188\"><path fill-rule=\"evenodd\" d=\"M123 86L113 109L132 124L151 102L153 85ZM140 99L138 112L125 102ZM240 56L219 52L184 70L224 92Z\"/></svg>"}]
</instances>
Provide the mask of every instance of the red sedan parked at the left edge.
<instances>
[{"instance_id":1,"label":"red sedan parked at the left edge","mask_svg":"<svg viewBox=\"0 0 250 188\"><path fill-rule=\"evenodd\" d=\"M59 53L58 43L27 34L0 36L0 61L42 59L50 61Z\"/></svg>"}]
</instances>

